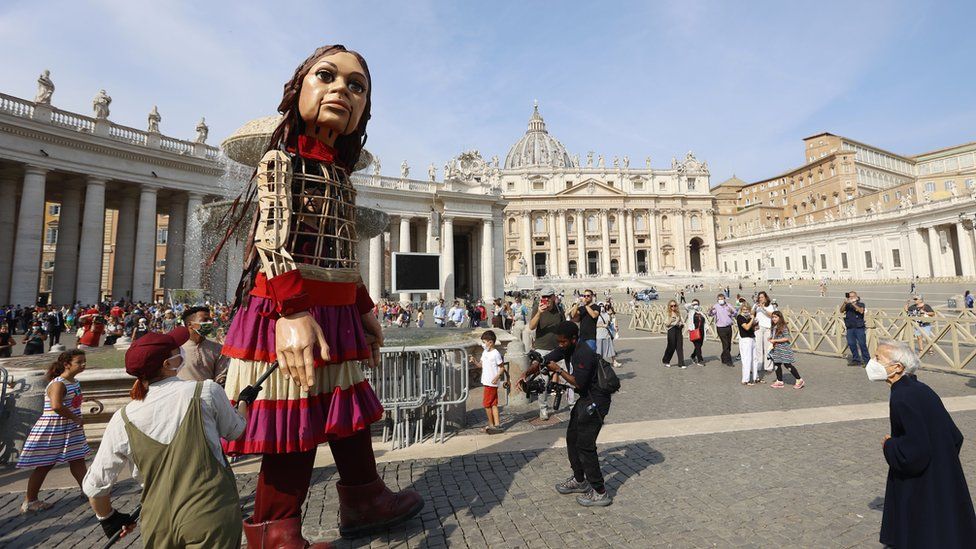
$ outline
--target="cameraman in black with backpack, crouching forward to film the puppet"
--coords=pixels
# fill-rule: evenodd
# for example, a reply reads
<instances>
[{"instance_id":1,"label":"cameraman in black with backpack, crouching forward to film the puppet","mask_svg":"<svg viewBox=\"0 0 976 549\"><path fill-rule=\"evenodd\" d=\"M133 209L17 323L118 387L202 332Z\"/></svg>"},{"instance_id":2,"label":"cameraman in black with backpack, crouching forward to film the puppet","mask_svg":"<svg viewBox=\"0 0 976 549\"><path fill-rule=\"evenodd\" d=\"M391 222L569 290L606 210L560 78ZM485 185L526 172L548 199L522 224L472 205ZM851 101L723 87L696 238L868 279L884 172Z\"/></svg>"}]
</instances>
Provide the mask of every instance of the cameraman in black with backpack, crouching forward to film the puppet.
<instances>
[{"instance_id":1,"label":"cameraman in black with backpack, crouching forward to film the puppet","mask_svg":"<svg viewBox=\"0 0 976 549\"><path fill-rule=\"evenodd\" d=\"M584 507L606 507L613 503L613 498L603 484L596 439L603 427L603 418L610 413L610 395L596 384L600 356L588 345L579 344L579 329L572 322L563 321L556 327L556 341L558 348L543 357L542 364L561 382L574 387L580 396L570 411L566 428L566 451L573 476L557 484L556 491L580 494L576 503ZM571 367L574 373L564 370L559 362ZM533 363L522 374L518 387L524 387L526 377L535 375L539 369L540 364Z\"/></svg>"}]
</instances>

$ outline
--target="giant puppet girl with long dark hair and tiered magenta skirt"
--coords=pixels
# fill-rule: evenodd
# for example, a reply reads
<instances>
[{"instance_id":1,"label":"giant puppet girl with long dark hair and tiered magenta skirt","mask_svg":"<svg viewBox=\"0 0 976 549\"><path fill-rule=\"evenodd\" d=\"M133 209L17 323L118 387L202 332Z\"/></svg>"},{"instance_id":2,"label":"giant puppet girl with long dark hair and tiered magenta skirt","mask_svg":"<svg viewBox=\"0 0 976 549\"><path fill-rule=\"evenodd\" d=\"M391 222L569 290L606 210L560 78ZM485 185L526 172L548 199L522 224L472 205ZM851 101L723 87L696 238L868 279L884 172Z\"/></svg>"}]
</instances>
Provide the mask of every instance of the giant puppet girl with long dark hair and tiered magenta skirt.
<instances>
[{"instance_id":1,"label":"giant puppet girl with long dark hair and tiered magenta skirt","mask_svg":"<svg viewBox=\"0 0 976 549\"><path fill-rule=\"evenodd\" d=\"M387 528L423 507L419 494L391 492L376 473L369 426L383 408L360 367L382 342L359 274L349 179L366 141L371 84L358 53L316 50L285 84L281 123L247 193L258 212L223 349L228 397L236 401L279 364L244 435L226 444L230 454L262 455L254 514L244 521L249 547L306 546L302 503L323 442L339 473L342 536Z\"/></svg>"}]
</instances>

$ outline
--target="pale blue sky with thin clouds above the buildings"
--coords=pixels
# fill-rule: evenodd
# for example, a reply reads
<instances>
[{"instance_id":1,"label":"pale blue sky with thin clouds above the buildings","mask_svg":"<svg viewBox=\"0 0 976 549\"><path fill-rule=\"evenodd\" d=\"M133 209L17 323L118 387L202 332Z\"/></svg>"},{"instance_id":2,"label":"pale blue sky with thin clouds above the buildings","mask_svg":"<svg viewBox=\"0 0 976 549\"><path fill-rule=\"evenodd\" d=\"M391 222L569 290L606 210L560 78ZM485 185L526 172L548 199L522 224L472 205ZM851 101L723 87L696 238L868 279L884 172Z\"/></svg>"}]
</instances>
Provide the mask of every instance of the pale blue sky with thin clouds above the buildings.
<instances>
[{"instance_id":1,"label":"pale blue sky with thin clouds above the buildings","mask_svg":"<svg viewBox=\"0 0 976 549\"><path fill-rule=\"evenodd\" d=\"M315 47L373 75L367 148L394 174L477 148L504 158L538 100L570 153L655 166L688 150L712 184L803 162L821 131L917 154L976 140L976 2L168 2L0 4L0 91L218 142L272 114ZM440 174L438 175L440 177Z\"/></svg>"}]
</instances>

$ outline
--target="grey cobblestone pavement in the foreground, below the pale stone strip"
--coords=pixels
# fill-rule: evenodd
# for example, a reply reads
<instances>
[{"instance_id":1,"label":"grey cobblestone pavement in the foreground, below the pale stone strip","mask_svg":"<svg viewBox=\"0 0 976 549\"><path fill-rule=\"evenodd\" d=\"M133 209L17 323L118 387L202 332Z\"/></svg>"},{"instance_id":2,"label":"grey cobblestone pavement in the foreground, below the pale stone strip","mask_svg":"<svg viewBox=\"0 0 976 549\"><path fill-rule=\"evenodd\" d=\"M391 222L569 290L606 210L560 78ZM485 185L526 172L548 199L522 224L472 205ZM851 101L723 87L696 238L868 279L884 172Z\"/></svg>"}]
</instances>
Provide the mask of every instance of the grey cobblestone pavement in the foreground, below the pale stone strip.
<instances>
[{"instance_id":1,"label":"grey cobblestone pavement in the foreground, below the pale stone strip","mask_svg":"<svg viewBox=\"0 0 976 549\"><path fill-rule=\"evenodd\" d=\"M976 489L976 412L956 415L969 436L962 458ZM552 484L567 474L563 450L459 456L381 465L388 484L427 502L396 533L338 547L876 547L886 466L886 420L666 438L601 446L614 505L589 510ZM305 533L337 537L335 469L318 469ZM239 477L245 511L254 475ZM131 509L131 483L119 498ZM0 545L94 547L103 537L76 490L44 493L39 517L0 497ZM135 539L125 544L138 546Z\"/></svg>"}]
</instances>

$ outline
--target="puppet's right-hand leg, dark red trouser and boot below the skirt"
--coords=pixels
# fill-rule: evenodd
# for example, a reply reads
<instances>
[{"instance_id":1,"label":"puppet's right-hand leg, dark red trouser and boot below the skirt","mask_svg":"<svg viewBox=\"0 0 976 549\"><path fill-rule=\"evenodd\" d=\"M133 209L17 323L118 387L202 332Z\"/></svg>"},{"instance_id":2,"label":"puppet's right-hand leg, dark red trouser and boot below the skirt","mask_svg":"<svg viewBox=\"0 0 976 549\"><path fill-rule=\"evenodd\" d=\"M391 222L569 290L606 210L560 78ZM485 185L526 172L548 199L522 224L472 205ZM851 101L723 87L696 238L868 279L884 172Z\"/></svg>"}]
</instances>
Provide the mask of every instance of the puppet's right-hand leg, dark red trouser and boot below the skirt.
<instances>
[{"instance_id":1,"label":"puppet's right-hand leg, dark red trouser and boot below the skirt","mask_svg":"<svg viewBox=\"0 0 976 549\"><path fill-rule=\"evenodd\" d=\"M339 534L354 538L414 517L424 500L413 490L393 492L376 473L369 431L329 442L339 472Z\"/></svg>"}]
</instances>

